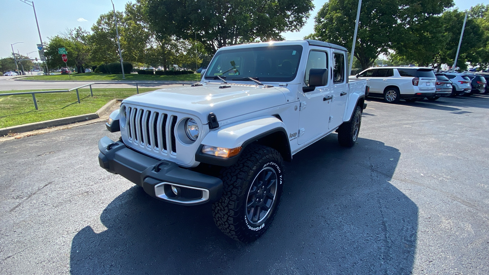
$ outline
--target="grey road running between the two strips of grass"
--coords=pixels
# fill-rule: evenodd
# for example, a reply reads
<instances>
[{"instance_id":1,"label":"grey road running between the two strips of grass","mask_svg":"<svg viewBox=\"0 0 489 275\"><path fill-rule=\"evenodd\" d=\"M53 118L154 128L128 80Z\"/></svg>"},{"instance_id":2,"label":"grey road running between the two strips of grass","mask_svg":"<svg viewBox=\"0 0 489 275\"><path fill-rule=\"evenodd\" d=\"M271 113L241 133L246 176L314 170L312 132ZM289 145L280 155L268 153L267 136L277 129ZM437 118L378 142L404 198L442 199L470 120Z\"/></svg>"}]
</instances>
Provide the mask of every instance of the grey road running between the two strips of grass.
<instances>
[{"instance_id":1,"label":"grey road running between the two strips of grass","mask_svg":"<svg viewBox=\"0 0 489 275\"><path fill-rule=\"evenodd\" d=\"M92 81L97 82L97 81ZM123 83L123 81L118 81ZM152 84L138 84L139 88L168 88L181 86L185 81L153 81ZM19 91L19 90L67 90L85 85L87 81L25 81L15 80L12 76L0 76L0 91ZM169 84L171 83L171 84ZM136 88L135 84L97 84L94 88ZM86 88L88 89L88 87Z\"/></svg>"}]
</instances>

